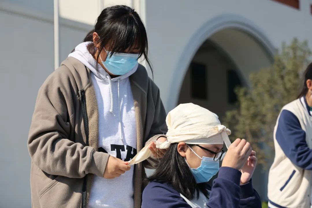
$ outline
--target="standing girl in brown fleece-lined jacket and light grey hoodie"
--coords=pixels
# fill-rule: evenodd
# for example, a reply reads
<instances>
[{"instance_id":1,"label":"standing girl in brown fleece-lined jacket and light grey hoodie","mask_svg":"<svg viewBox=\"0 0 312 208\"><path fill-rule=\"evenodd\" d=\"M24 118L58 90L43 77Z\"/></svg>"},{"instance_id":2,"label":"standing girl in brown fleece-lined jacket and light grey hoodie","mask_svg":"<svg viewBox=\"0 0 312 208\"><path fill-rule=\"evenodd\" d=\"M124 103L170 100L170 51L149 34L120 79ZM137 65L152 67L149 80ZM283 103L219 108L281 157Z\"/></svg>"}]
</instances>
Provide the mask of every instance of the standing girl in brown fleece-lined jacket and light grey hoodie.
<instances>
[{"instance_id":1,"label":"standing girl in brown fleece-lined jacket and light grey hoodie","mask_svg":"<svg viewBox=\"0 0 312 208\"><path fill-rule=\"evenodd\" d=\"M105 8L41 86L28 138L32 207L141 207L144 167L128 162L165 141L159 89L138 64L148 42L137 12ZM149 64L150 65L150 64Z\"/></svg>"}]
</instances>

